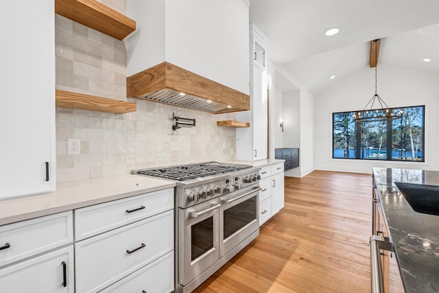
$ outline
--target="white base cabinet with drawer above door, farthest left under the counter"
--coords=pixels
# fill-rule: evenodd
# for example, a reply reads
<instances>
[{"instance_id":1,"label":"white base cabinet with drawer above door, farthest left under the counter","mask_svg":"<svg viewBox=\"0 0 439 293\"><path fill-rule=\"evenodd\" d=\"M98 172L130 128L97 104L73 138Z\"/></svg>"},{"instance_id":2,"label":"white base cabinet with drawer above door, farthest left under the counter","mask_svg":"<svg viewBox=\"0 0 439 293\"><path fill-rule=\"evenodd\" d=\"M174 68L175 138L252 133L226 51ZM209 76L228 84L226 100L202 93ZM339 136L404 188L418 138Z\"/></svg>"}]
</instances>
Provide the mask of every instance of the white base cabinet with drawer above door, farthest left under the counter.
<instances>
[{"instance_id":1,"label":"white base cabinet with drawer above door, farthest left under the counter","mask_svg":"<svg viewBox=\"0 0 439 293\"><path fill-rule=\"evenodd\" d=\"M74 292L71 211L0 226L1 292Z\"/></svg>"}]
</instances>

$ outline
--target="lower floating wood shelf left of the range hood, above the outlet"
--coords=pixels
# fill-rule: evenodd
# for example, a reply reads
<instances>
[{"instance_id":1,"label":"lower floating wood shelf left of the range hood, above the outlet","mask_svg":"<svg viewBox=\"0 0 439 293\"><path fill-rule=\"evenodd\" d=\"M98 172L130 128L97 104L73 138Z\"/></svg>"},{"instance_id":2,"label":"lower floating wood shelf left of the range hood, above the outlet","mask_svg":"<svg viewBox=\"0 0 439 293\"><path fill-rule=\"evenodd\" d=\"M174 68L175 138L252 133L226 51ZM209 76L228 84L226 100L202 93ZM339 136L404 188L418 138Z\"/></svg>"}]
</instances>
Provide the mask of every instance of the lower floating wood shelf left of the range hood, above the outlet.
<instances>
[{"instance_id":1,"label":"lower floating wood shelf left of the range hood, above the outlet","mask_svg":"<svg viewBox=\"0 0 439 293\"><path fill-rule=\"evenodd\" d=\"M83 93L73 93L57 89L56 106L65 108L75 108L82 110L99 111L106 113L123 114L137 110L136 103L109 99L108 97L97 97L95 95L85 95Z\"/></svg>"}]
</instances>

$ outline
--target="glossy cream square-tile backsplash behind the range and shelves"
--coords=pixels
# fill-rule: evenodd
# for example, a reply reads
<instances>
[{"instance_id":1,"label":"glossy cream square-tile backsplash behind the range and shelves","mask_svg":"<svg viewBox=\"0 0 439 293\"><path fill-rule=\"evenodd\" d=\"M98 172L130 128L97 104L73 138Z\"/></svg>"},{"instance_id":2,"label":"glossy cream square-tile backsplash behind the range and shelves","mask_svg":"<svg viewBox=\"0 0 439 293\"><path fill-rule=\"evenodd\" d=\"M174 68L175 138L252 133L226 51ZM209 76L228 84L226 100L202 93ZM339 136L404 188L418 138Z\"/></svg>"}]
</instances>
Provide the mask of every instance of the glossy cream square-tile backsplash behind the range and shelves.
<instances>
[{"instance_id":1,"label":"glossy cream square-tile backsplash behind the range and shelves","mask_svg":"<svg viewBox=\"0 0 439 293\"><path fill-rule=\"evenodd\" d=\"M101 1L125 14L125 0ZM56 88L126 100L126 43L56 14ZM217 127L234 113L212 115L129 99L126 114L56 108L58 182L129 174L132 169L235 159L235 128ZM172 115L195 118L195 127L171 130ZM67 154L67 139L81 154Z\"/></svg>"}]
</instances>

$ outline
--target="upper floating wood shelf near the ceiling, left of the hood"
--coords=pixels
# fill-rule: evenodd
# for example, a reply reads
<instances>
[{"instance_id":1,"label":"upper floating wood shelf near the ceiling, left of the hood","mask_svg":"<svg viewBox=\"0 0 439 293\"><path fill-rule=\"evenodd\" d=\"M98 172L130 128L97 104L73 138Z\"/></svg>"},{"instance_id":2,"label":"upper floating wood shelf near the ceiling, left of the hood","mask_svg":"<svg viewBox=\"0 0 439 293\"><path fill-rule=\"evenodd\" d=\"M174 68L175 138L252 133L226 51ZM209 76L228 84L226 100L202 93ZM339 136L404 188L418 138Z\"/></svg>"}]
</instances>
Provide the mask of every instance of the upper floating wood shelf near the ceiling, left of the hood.
<instances>
[{"instance_id":1,"label":"upper floating wood shelf near the ceiling, left of the hood","mask_svg":"<svg viewBox=\"0 0 439 293\"><path fill-rule=\"evenodd\" d=\"M136 22L96 0L55 0L55 13L123 40L136 30Z\"/></svg>"}]
</instances>

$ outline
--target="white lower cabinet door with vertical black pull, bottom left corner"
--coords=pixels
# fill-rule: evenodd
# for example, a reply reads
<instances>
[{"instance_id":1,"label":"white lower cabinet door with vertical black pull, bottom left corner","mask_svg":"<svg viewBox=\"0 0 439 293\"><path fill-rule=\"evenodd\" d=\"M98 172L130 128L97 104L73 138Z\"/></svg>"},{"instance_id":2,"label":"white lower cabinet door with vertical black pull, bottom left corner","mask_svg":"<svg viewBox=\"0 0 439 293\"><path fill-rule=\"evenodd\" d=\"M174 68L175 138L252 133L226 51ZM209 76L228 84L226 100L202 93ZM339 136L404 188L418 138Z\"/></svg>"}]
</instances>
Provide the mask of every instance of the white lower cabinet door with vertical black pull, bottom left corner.
<instances>
[{"instance_id":1,"label":"white lower cabinet door with vertical black pull, bottom left corner","mask_svg":"<svg viewBox=\"0 0 439 293\"><path fill-rule=\"evenodd\" d=\"M73 293L73 268L71 245L1 269L0 291Z\"/></svg>"}]
</instances>

